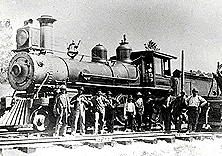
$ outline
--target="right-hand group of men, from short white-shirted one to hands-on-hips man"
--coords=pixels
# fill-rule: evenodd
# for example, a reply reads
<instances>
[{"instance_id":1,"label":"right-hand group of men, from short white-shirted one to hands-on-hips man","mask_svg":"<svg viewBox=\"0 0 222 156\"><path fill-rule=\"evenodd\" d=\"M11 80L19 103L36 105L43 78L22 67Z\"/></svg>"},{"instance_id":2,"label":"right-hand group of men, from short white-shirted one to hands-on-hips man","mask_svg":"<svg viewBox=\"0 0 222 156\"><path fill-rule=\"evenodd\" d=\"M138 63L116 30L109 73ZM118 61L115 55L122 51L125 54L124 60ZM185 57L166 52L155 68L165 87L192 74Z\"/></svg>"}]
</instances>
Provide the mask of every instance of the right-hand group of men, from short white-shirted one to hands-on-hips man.
<instances>
[{"instance_id":1,"label":"right-hand group of men, from short white-shirted one to hands-on-hips man","mask_svg":"<svg viewBox=\"0 0 222 156\"><path fill-rule=\"evenodd\" d=\"M196 131L201 108L207 104L207 101L198 95L198 90L195 88L192 89L192 95L190 96L187 96L184 91L182 91L179 96L173 96L173 94L174 92L172 89L168 90L166 96L162 98L153 99L150 96L151 94L148 94L145 105L140 92L137 93L138 97L136 101L133 101L132 95L129 95L124 106L124 116L126 118L125 129L127 126L130 126L132 131L141 131L142 122L146 122L143 118L149 118L149 124L146 125L145 123L145 127L148 127L148 130L150 130L152 115L155 111L159 111L162 115L166 133L171 132L172 123L174 123L175 129L181 132L182 121L186 118L184 115L185 113L188 116L187 132ZM157 103L160 103L159 107L155 106ZM156 107L158 107L159 110L154 110Z\"/></svg>"}]
</instances>

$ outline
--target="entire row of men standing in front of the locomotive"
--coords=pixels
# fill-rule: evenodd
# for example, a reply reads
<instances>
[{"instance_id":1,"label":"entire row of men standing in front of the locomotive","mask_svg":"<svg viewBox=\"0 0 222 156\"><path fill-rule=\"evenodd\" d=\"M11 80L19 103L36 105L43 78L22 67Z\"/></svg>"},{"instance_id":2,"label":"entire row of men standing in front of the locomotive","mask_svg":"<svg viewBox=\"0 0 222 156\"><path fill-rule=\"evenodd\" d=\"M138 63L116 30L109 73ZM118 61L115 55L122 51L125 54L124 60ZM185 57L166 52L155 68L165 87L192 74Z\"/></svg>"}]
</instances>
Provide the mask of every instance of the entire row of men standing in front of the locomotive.
<instances>
[{"instance_id":1,"label":"entire row of men standing in front of the locomotive","mask_svg":"<svg viewBox=\"0 0 222 156\"><path fill-rule=\"evenodd\" d=\"M78 94L69 100L66 94L66 86L60 86L60 92L55 96L53 113L56 116L56 128L55 136L66 135L68 116L71 115L73 119L71 122L71 134L76 135L77 124L80 124L80 135L85 134L85 111L90 107L93 108L95 117L94 133L99 134L104 131L105 115L106 126L108 132L114 131L114 118L115 109L118 105L118 101L112 97L110 91L106 95L98 90L90 100L83 94L84 88L78 89ZM132 95L128 95L124 104L124 118L125 118L125 130L130 127L131 131L142 131L142 123L144 121L144 104L142 94L137 92L136 99L134 100ZM148 98L149 100L149 98ZM181 92L178 97L173 96L173 91L169 90L167 95L161 100L161 114L164 121L165 131L169 133L171 131L171 121L178 131L181 130L181 117L184 109L188 115L188 130L189 132L195 131L198 122L199 111L207 101L198 95L196 89L192 90L192 95L187 97L185 92ZM152 109L152 106L151 106ZM151 116L150 116L151 117ZM173 118L172 118L173 117ZM150 124L149 124L150 126Z\"/></svg>"}]
</instances>

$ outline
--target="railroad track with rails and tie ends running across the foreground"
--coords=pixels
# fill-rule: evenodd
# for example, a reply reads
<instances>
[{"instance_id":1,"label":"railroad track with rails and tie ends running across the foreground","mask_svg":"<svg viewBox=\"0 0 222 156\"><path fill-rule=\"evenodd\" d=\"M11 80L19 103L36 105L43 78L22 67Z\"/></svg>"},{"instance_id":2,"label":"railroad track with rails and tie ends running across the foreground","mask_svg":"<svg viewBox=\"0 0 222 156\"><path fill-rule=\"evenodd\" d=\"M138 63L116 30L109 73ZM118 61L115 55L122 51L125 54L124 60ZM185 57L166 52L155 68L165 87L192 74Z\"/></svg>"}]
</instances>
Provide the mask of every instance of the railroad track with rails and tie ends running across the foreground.
<instances>
[{"instance_id":1,"label":"railroad track with rails and tie ends running across the foreground","mask_svg":"<svg viewBox=\"0 0 222 156\"><path fill-rule=\"evenodd\" d=\"M114 134L100 134L91 135L87 134L85 136L71 136L66 137L41 137L40 135L34 136L27 135L19 137L19 133L13 132L15 137L11 136L7 138L0 138L0 151L4 149L20 149L26 153L31 149L32 151L39 147L51 147L51 146L64 146L73 147L78 145L89 145L91 147L102 148L104 145L108 144L114 146L115 144L131 144L135 141L143 141L145 143L157 143L158 140L165 140L169 143L175 142L175 140L185 140L192 141L193 139L215 139L222 138L221 132L198 132L198 133L170 133L166 134L163 132L116 132ZM0 133L0 136L3 135ZM22 136L22 135L21 135Z\"/></svg>"}]
</instances>

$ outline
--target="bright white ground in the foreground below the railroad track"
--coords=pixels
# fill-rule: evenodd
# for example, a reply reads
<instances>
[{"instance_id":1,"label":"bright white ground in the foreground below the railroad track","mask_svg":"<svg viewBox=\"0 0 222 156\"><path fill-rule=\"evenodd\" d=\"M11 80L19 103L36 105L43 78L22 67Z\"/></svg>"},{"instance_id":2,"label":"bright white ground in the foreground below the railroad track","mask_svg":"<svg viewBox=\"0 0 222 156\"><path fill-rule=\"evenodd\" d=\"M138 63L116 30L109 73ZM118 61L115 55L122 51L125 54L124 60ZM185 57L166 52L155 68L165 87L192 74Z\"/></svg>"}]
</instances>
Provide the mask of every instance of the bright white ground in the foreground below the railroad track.
<instances>
[{"instance_id":1,"label":"bright white ground in the foreground below the railroad track","mask_svg":"<svg viewBox=\"0 0 222 156\"><path fill-rule=\"evenodd\" d=\"M34 153L23 153L18 150L5 150L4 156L221 156L222 139L194 140L192 142L176 140L175 143L158 141L157 144L135 142L131 145L117 144L115 147L105 145L102 149L79 146L75 149L55 146L39 148Z\"/></svg>"}]
</instances>

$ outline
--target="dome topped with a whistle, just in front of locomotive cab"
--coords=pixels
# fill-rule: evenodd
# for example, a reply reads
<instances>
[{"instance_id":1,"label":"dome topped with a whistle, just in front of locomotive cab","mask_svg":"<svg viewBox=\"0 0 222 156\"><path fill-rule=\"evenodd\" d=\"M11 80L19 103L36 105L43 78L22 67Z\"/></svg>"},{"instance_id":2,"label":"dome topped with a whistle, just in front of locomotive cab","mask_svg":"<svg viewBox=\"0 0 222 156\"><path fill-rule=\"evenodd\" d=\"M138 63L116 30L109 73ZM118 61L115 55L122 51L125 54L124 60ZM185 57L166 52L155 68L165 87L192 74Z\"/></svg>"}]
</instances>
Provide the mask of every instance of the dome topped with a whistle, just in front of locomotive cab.
<instances>
[{"instance_id":1,"label":"dome topped with a whistle, just in front of locomotive cab","mask_svg":"<svg viewBox=\"0 0 222 156\"><path fill-rule=\"evenodd\" d=\"M131 63L130 54L132 48L129 46L129 42L126 41L126 35L123 35L123 40L121 40L120 45L116 48L116 58L117 61L122 61L124 63Z\"/></svg>"}]
</instances>

